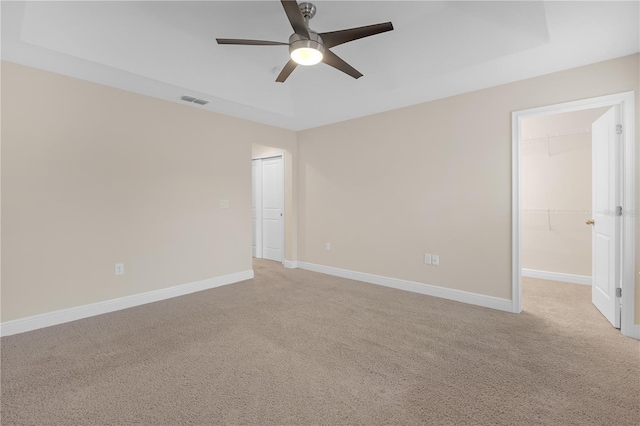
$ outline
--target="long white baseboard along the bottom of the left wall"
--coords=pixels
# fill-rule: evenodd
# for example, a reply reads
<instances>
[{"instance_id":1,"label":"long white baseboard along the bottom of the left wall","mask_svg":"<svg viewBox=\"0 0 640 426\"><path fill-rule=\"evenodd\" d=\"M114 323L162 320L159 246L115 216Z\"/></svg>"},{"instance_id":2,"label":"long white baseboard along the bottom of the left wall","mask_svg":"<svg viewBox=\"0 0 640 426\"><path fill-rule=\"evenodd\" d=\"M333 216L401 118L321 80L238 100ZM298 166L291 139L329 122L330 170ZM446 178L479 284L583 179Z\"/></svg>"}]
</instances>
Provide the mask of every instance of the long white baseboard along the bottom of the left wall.
<instances>
[{"instance_id":1,"label":"long white baseboard along the bottom of the left wall","mask_svg":"<svg viewBox=\"0 0 640 426\"><path fill-rule=\"evenodd\" d=\"M50 327L52 325L63 324L69 321L132 308L134 306L157 302L159 300L170 299L172 297L183 296L197 291L208 290L227 284L250 280L252 278L253 270L247 270L237 272L235 274L223 275L221 277L177 285L175 287L149 291L147 293L134 294L131 296L120 297L118 299L105 300L103 302L91 303L89 305L76 306L74 308L47 312L45 314L34 315L12 321L5 321L0 324L0 336L24 333L38 328Z\"/></svg>"}]
</instances>

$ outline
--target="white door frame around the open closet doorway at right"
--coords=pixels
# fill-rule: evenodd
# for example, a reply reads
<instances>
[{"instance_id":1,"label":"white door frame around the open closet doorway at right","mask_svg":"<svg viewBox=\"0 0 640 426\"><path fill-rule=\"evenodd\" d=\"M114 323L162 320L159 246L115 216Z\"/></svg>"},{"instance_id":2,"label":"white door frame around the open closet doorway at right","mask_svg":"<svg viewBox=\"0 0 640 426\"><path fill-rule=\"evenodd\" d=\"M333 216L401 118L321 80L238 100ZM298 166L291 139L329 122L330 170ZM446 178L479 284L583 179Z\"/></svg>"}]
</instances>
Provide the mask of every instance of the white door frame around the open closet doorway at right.
<instances>
[{"instance_id":1,"label":"white door frame around the open closet doorway at right","mask_svg":"<svg viewBox=\"0 0 640 426\"><path fill-rule=\"evenodd\" d=\"M619 106L620 119L623 128L621 135L621 149L618 158L620 173L620 200L623 215L620 223L620 280L622 287L622 317L620 332L628 337L640 339L640 325L634 324L635 319L635 238L636 238L636 129L635 129L635 92L623 92L595 98L582 99L547 105L511 113L511 225L512 225L512 288L511 310L522 312L522 262L520 227L522 220L521 205L521 164L520 144L522 121L526 118L553 115L584 109Z\"/></svg>"}]
</instances>

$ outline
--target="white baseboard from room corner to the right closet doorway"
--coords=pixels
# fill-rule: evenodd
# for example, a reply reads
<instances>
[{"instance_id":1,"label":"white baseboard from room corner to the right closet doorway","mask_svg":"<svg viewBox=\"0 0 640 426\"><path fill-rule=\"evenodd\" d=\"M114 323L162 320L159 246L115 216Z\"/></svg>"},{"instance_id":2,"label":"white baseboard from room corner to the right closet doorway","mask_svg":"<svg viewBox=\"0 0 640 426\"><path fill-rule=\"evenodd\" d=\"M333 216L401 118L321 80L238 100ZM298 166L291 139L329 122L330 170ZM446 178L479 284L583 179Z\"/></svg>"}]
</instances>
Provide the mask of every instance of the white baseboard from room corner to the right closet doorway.
<instances>
[{"instance_id":1,"label":"white baseboard from room corner to the right closet doorway","mask_svg":"<svg viewBox=\"0 0 640 426\"><path fill-rule=\"evenodd\" d=\"M457 302L469 303L471 305L483 306L485 308L498 309L500 311L512 312L511 300L499 297L485 296L477 293L470 293L462 290L438 287L414 281L400 280L397 278L383 277L380 275L366 274L363 272L350 271L347 269L333 268L331 266L316 265L307 262L298 262L298 267L308 271L320 272L334 275L336 277L349 278L363 281L370 284L382 285L385 287L397 288L399 290L413 293L425 294L427 296L440 297L442 299L455 300Z\"/></svg>"}]
</instances>

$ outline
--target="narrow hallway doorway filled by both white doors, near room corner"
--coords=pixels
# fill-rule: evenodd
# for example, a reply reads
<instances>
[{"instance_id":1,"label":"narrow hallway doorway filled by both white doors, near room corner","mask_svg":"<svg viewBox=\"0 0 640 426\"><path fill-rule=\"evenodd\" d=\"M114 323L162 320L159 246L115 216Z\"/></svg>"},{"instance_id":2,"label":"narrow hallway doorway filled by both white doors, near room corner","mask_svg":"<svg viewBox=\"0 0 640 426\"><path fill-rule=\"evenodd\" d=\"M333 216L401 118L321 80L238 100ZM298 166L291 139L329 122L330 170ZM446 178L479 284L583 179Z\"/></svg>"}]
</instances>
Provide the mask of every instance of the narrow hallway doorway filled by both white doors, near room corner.
<instances>
[{"instance_id":1,"label":"narrow hallway doorway filled by both white doors, near room corner","mask_svg":"<svg viewBox=\"0 0 640 426\"><path fill-rule=\"evenodd\" d=\"M284 261L284 161L282 155L252 160L252 255Z\"/></svg>"}]
</instances>

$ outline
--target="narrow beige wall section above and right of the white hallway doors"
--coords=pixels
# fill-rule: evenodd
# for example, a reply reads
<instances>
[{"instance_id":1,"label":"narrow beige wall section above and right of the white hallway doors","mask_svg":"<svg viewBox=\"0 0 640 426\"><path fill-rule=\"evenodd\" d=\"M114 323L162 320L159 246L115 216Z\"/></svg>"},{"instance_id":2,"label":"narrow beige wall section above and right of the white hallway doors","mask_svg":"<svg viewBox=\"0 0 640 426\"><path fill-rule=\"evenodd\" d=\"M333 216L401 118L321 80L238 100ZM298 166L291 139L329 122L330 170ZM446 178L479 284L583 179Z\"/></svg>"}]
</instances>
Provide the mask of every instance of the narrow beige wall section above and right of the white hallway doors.
<instances>
[{"instance_id":1,"label":"narrow beige wall section above and right of the white hallway doors","mask_svg":"<svg viewBox=\"0 0 640 426\"><path fill-rule=\"evenodd\" d=\"M252 158L284 155L284 258L290 261L298 259L297 153L297 139L291 138L277 141L275 146L254 143L251 149Z\"/></svg>"}]
</instances>

